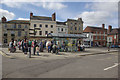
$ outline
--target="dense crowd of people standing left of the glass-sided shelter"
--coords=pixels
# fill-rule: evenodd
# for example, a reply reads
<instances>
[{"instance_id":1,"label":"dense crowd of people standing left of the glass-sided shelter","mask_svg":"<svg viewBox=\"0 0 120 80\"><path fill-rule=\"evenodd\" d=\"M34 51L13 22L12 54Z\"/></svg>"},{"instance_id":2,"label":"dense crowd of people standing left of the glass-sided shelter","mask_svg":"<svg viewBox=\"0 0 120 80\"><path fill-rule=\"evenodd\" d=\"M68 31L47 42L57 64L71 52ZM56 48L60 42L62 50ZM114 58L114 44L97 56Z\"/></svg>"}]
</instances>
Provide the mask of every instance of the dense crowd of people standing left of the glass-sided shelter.
<instances>
[{"instance_id":1,"label":"dense crowd of people standing left of the glass-sided shelter","mask_svg":"<svg viewBox=\"0 0 120 80\"><path fill-rule=\"evenodd\" d=\"M24 54L31 55L31 50L33 48L33 55L37 53L39 56L39 52L43 52L44 50L47 50L48 53L56 53L58 54L58 48L57 45L52 40L44 40L44 41L37 41L37 40L11 40L9 43L9 48L12 48L13 46L18 46L19 50L22 50Z\"/></svg>"}]
</instances>

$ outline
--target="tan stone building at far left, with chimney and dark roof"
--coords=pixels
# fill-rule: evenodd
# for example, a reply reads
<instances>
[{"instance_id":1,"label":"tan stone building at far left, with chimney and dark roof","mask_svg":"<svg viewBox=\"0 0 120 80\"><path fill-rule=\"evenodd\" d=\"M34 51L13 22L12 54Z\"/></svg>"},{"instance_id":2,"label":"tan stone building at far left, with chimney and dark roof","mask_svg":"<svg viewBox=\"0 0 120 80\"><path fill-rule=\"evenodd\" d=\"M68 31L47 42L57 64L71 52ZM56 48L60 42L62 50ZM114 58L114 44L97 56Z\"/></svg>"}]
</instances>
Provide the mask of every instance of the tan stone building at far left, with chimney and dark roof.
<instances>
[{"instance_id":1,"label":"tan stone building at far left, with chimney and dark roof","mask_svg":"<svg viewBox=\"0 0 120 80\"><path fill-rule=\"evenodd\" d=\"M7 21L2 17L2 45L6 46L11 41L29 38L29 21L26 20L11 20Z\"/></svg>"}]
</instances>

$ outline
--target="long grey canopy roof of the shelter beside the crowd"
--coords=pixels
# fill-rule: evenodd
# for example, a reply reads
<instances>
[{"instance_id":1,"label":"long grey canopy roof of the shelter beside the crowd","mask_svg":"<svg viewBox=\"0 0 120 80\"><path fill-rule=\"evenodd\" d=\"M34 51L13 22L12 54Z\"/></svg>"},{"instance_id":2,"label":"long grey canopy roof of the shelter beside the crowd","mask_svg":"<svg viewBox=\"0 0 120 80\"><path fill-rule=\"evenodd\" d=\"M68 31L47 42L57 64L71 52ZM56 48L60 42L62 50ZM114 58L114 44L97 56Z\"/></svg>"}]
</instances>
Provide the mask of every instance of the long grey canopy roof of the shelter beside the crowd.
<instances>
[{"instance_id":1,"label":"long grey canopy roof of the shelter beside the crowd","mask_svg":"<svg viewBox=\"0 0 120 80\"><path fill-rule=\"evenodd\" d=\"M49 33L47 37L59 37L59 38L86 38L84 34L62 34L62 33Z\"/></svg>"}]
</instances>

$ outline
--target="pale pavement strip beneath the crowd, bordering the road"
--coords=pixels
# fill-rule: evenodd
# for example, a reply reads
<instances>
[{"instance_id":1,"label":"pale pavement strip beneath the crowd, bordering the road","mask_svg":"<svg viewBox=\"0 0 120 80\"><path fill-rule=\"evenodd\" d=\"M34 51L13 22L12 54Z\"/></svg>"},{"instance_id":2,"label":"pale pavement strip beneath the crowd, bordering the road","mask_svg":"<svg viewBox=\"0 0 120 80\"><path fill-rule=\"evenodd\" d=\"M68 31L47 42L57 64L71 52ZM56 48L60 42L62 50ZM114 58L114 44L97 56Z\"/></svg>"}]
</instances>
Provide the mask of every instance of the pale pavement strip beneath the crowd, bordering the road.
<instances>
[{"instance_id":1,"label":"pale pavement strip beneath the crowd, bordering the road","mask_svg":"<svg viewBox=\"0 0 120 80\"><path fill-rule=\"evenodd\" d=\"M106 53L113 53L118 52L118 48L111 48L110 51L107 48L86 48L85 51L79 52L59 52L58 55L47 53L47 51L40 52L40 56L31 55L31 58L28 57L28 54L25 55L21 50L16 50L15 53L10 53L8 48L0 49L0 54L8 58L18 58L18 59L35 59L35 60L43 60L43 59L65 59L65 58L73 58L79 56L87 56L87 55L96 55L96 54L106 54Z\"/></svg>"}]
</instances>

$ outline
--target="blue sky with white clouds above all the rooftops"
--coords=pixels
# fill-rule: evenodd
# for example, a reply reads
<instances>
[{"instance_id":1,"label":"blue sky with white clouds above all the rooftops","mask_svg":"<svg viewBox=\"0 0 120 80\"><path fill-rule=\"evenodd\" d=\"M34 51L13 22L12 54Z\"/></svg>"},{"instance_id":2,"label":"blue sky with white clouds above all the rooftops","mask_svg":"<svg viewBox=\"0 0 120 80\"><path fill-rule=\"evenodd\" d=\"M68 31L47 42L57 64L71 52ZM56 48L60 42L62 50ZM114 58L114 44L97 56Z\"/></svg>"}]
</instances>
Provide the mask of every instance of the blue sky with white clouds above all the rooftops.
<instances>
[{"instance_id":1,"label":"blue sky with white clouds above all the rooftops","mask_svg":"<svg viewBox=\"0 0 120 80\"><path fill-rule=\"evenodd\" d=\"M18 1L18 2L17 2ZM115 1L115 0L114 0ZM112 25L118 27L118 2L106 1L61 1L48 2L39 0L2 0L0 2L0 18L5 16L7 20L29 20L30 12L35 16L48 16L56 12L57 21L82 18L83 27L101 27L104 23L106 28Z\"/></svg>"}]
</instances>

